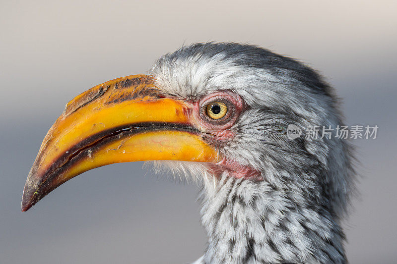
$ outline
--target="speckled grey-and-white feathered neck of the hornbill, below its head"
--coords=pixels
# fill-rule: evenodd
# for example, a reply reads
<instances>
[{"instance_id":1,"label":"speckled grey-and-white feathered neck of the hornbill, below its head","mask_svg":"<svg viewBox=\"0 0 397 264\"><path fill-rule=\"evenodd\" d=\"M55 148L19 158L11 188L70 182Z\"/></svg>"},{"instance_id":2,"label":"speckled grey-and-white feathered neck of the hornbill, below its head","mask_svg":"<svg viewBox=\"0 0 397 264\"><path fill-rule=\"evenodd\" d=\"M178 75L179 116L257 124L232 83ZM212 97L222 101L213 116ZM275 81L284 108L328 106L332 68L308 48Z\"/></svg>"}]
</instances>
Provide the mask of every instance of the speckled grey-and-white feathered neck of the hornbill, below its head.
<instances>
[{"instance_id":1,"label":"speckled grey-and-white feathered neck of the hornbill, below its head","mask_svg":"<svg viewBox=\"0 0 397 264\"><path fill-rule=\"evenodd\" d=\"M292 193L226 175L205 181L203 263L345 263L338 220Z\"/></svg>"}]
</instances>

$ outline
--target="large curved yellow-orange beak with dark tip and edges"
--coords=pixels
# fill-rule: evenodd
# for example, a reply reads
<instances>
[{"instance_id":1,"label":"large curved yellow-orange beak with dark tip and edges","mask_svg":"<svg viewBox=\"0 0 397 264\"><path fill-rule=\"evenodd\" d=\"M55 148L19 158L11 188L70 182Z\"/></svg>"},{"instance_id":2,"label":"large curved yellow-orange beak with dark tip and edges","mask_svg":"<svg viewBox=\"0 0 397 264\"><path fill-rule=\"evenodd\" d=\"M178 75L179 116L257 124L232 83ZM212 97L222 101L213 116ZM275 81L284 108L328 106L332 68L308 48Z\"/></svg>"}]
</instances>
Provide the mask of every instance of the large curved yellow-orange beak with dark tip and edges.
<instances>
[{"instance_id":1,"label":"large curved yellow-orange beak with dark tip and edges","mask_svg":"<svg viewBox=\"0 0 397 264\"><path fill-rule=\"evenodd\" d=\"M48 131L26 180L22 211L67 180L107 164L144 160L218 162L194 126L189 103L165 98L150 76L97 85L70 101Z\"/></svg>"}]
</instances>

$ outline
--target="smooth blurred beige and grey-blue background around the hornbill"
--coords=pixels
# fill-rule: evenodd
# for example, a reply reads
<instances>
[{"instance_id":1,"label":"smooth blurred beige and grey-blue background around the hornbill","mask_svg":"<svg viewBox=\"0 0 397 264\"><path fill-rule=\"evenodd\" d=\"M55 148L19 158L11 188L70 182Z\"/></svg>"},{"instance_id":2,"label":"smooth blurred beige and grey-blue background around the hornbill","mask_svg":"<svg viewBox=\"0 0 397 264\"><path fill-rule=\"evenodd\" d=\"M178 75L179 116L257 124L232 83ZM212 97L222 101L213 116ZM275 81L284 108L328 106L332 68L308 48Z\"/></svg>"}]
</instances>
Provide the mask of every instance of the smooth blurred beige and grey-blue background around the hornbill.
<instances>
[{"instance_id":1,"label":"smooth blurred beige and grey-blue background around the hornbill","mask_svg":"<svg viewBox=\"0 0 397 264\"><path fill-rule=\"evenodd\" d=\"M352 264L396 263L396 1L0 1L0 263L187 263L202 255L196 186L142 163L84 173L21 213L49 127L80 92L147 73L185 44L257 44L320 70L344 100L361 197L345 222Z\"/></svg>"}]
</instances>

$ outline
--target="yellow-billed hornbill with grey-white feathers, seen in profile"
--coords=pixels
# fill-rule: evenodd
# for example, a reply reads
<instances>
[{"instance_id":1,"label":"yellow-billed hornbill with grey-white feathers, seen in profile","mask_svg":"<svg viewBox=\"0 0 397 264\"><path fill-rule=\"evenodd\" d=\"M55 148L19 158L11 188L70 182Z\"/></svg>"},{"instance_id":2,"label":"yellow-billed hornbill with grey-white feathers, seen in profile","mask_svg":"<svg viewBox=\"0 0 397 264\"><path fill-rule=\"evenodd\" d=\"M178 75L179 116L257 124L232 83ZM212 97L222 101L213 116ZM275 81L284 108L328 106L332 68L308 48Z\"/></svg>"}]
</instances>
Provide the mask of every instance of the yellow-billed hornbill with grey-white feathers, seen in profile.
<instances>
[{"instance_id":1,"label":"yellow-billed hornbill with grey-white feathers, seen in profile","mask_svg":"<svg viewBox=\"0 0 397 264\"><path fill-rule=\"evenodd\" d=\"M289 124L303 134L289 139ZM155 164L201 182L208 244L197 263L345 263L351 147L305 136L340 124L332 88L296 60L235 43L183 47L150 75L108 81L66 105L29 172L22 211L92 168L163 160Z\"/></svg>"}]
</instances>

